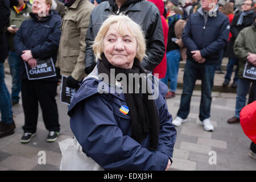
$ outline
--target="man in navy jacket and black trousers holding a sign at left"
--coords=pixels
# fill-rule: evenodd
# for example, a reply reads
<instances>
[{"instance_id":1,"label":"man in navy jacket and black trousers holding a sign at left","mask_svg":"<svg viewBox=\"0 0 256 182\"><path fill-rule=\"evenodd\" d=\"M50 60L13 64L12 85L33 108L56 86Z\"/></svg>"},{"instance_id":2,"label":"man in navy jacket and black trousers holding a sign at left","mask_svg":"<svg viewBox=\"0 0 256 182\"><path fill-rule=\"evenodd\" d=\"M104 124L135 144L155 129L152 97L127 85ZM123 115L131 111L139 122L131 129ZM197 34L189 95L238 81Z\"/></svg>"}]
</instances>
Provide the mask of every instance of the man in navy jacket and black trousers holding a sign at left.
<instances>
[{"instance_id":1,"label":"man in navy jacket and black trousers holding a sign at left","mask_svg":"<svg viewBox=\"0 0 256 182\"><path fill-rule=\"evenodd\" d=\"M25 67L26 62L31 68L34 68L39 59L46 60L51 57L53 62L56 62L61 35L61 18L59 15L52 14L50 7L51 0L34 0L32 13L30 13L31 19L24 20L14 37L15 51L23 60L20 65L22 106L25 117L25 124L22 127L24 135L20 140L22 143L30 142L31 138L35 136L38 122L38 102L42 109L44 125L49 131L47 142L54 142L60 131L55 100L59 78L53 76L40 80L28 80L28 72ZM39 64L38 67L44 66Z\"/></svg>"}]
</instances>

